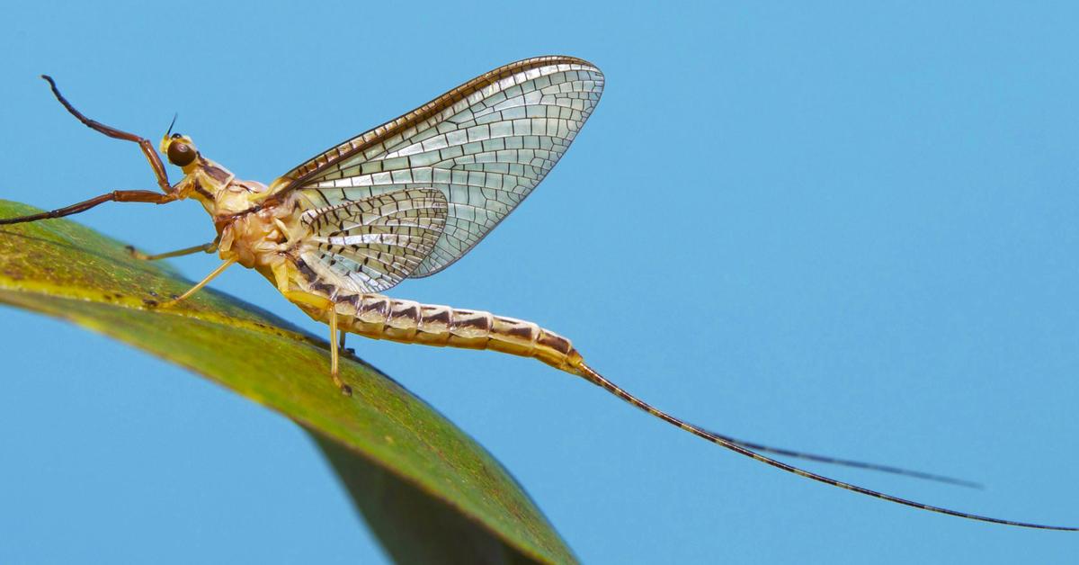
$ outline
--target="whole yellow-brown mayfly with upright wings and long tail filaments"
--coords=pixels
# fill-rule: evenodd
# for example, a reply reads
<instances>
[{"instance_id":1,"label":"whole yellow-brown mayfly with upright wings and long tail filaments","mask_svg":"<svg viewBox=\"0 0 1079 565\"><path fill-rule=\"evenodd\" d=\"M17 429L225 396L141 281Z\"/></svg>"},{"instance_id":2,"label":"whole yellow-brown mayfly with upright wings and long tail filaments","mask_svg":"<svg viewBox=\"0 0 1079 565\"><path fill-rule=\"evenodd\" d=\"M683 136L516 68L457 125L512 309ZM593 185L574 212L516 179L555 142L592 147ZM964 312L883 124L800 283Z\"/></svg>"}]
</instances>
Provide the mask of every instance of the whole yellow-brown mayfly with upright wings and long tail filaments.
<instances>
[{"instance_id":1,"label":"whole yellow-brown mayfly with upright wings and long tail filaments","mask_svg":"<svg viewBox=\"0 0 1079 565\"><path fill-rule=\"evenodd\" d=\"M83 124L139 145L161 192L118 190L0 225L78 214L105 202L167 204L194 199L214 219L213 242L147 259L217 252L221 265L182 300L234 264L270 280L308 315L329 325L330 376L346 333L438 347L490 349L537 359L577 375L694 435L783 471L875 498L983 522L1077 530L958 512L822 476L762 453L958 482L872 463L743 442L675 418L592 369L569 339L532 322L383 296L407 278L435 274L473 248L555 166L592 113L603 75L566 56L534 57L481 75L434 100L319 153L269 186L241 180L169 131L159 148L183 178L170 184L146 138L92 120L43 76ZM174 119L175 124L175 119ZM166 302L162 306L167 307Z\"/></svg>"}]
</instances>

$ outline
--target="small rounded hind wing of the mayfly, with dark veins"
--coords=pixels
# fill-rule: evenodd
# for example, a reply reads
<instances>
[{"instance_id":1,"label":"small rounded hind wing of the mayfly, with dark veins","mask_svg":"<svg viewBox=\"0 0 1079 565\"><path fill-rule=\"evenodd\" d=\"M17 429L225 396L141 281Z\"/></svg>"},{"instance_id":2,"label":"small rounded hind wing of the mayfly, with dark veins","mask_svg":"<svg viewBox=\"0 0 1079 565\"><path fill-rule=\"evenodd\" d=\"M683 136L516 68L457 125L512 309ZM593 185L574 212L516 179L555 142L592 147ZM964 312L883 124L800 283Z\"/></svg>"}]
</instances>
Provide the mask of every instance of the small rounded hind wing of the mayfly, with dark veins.
<instances>
[{"instance_id":1,"label":"small rounded hind wing of the mayfly, with dark veins","mask_svg":"<svg viewBox=\"0 0 1079 565\"><path fill-rule=\"evenodd\" d=\"M379 293L431 255L446 227L446 197L410 188L305 211L299 256L317 282L350 293Z\"/></svg>"}]
</instances>

